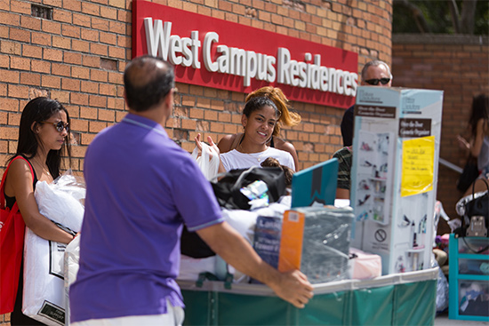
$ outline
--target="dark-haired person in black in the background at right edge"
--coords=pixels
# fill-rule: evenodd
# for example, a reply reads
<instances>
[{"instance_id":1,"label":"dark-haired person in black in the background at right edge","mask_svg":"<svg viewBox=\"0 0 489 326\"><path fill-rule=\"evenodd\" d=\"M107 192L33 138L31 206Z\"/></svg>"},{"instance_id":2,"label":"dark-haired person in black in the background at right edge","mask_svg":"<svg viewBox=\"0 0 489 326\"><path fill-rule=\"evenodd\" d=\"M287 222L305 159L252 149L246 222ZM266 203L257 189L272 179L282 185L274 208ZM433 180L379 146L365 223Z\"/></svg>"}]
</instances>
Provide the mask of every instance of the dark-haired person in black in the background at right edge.
<instances>
[{"instance_id":1,"label":"dark-haired person in black in the background at right edge","mask_svg":"<svg viewBox=\"0 0 489 326\"><path fill-rule=\"evenodd\" d=\"M461 135L457 136L459 146L471 157L477 159L477 169L485 179L489 173L489 97L480 94L472 99L472 110L470 111L469 123L469 140L464 139ZM470 187L471 189L471 187Z\"/></svg>"}]
</instances>

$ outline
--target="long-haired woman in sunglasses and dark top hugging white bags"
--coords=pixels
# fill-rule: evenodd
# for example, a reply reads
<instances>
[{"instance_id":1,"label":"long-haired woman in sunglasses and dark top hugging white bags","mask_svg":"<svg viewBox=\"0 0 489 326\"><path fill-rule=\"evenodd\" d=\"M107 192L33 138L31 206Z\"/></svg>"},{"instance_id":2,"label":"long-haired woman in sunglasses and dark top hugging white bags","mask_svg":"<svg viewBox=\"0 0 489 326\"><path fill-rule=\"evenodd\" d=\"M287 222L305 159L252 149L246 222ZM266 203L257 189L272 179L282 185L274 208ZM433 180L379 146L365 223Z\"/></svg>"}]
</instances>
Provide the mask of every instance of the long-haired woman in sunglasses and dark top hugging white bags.
<instances>
[{"instance_id":1,"label":"long-haired woman in sunglasses and dark top hugging white bags","mask_svg":"<svg viewBox=\"0 0 489 326\"><path fill-rule=\"evenodd\" d=\"M12 209L17 203L28 228L36 235L58 243L69 243L73 235L61 230L39 212L34 190L37 181L51 183L60 176L62 154L68 155L68 163L71 164L69 140L67 109L55 99L40 97L30 100L20 116L17 152L7 161L10 167L4 184L6 206ZM11 324L42 325L21 312L22 274L21 265Z\"/></svg>"}]
</instances>

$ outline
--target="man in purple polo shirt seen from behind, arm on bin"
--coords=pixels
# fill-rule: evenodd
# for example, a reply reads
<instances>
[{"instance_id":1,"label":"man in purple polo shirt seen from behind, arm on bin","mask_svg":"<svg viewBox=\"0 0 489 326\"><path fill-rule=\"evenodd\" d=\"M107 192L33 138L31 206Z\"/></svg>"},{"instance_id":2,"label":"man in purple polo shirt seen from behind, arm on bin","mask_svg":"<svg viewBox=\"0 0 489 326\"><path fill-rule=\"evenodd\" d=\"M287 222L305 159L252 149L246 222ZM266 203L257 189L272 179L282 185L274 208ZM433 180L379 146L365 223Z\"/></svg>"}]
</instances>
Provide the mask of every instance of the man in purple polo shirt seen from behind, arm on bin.
<instances>
[{"instance_id":1,"label":"man in purple polo shirt seen from behind, arm on bin","mask_svg":"<svg viewBox=\"0 0 489 326\"><path fill-rule=\"evenodd\" d=\"M76 325L180 325L175 278L183 223L280 298L297 307L312 298L304 274L278 272L223 221L209 182L164 131L173 91L171 65L148 56L132 60L124 72L129 114L88 147L80 267L70 288Z\"/></svg>"}]
</instances>

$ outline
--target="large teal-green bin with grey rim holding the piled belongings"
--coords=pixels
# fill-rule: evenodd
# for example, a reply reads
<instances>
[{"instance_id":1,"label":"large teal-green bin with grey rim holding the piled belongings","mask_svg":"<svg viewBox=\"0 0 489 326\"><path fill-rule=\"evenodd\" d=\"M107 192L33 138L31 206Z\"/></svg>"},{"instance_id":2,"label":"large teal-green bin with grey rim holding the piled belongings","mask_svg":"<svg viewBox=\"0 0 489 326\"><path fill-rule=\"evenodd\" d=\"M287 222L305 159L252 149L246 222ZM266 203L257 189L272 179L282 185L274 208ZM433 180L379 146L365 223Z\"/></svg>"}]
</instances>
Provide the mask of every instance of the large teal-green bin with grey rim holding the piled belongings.
<instances>
[{"instance_id":1,"label":"large teal-green bin with grey rim holding the piled belongings","mask_svg":"<svg viewBox=\"0 0 489 326\"><path fill-rule=\"evenodd\" d=\"M179 282L184 325L433 325L438 269L314 284L304 309L261 284Z\"/></svg>"}]
</instances>

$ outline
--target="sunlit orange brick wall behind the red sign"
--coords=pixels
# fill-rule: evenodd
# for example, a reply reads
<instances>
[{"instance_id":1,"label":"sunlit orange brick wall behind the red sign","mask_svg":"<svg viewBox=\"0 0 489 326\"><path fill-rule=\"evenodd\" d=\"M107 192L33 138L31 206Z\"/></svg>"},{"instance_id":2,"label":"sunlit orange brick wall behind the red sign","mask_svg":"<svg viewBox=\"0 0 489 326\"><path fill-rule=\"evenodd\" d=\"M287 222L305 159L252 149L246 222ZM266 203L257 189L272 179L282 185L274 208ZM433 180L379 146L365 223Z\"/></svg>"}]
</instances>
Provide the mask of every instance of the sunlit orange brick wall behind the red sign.
<instances>
[{"instance_id":1,"label":"sunlit orange brick wall behind the red sign","mask_svg":"<svg viewBox=\"0 0 489 326\"><path fill-rule=\"evenodd\" d=\"M390 62L391 1L167 0L190 12L339 47ZM52 20L32 15L52 9ZM22 108L39 95L59 99L72 118L73 169L81 171L93 137L124 116L122 73L131 59L131 1L0 1L0 166L16 148ZM214 139L241 130L245 94L179 84L170 136L190 151L196 132ZM293 103L302 123L285 128L300 168L341 147L342 109ZM3 171L3 170L2 170Z\"/></svg>"}]
</instances>

